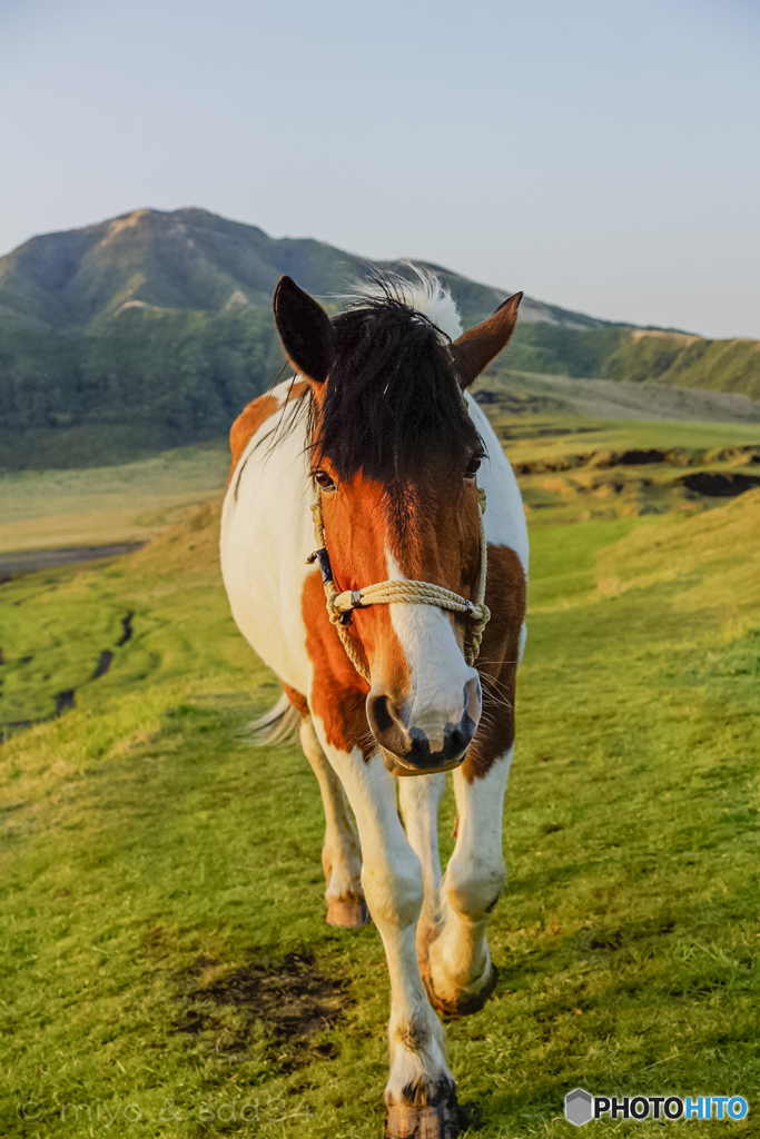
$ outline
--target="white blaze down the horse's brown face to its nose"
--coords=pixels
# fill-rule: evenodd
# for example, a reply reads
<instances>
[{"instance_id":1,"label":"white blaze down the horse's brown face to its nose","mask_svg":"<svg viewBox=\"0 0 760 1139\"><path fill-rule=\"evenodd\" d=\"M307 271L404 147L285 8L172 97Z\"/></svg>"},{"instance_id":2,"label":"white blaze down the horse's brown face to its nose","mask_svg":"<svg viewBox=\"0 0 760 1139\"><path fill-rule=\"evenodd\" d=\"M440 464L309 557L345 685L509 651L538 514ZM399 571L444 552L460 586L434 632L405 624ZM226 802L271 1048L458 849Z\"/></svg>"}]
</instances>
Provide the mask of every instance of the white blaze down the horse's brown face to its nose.
<instances>
[{"instance_id":1,"label":"white blaze down the horse's brown face to its nose","mask_svg":"<svg viewBox=\"0 0 760 1139\"><path fill-rule=\"evenodd\" d=\"M407 581L389 550L385 558L389 580ZM407 603L389 608L409 669L408 728L423 731L431 752L440 752L447 724L458 727L466 712L477 726L480 678L465 661L447 613L433 605Z\"/></svg>"}]
</instances>

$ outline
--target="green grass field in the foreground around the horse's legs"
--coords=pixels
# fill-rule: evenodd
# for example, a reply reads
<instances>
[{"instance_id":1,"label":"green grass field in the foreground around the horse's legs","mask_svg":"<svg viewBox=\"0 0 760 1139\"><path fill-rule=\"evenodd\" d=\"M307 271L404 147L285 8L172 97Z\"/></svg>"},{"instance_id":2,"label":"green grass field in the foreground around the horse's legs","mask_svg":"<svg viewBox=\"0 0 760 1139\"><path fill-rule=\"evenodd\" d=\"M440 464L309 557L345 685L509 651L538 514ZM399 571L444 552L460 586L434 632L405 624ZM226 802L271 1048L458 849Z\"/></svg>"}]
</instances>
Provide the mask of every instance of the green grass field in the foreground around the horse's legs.
<instances>
[{"instance_id":1,"label":"green grass field in the foreground around the horse's legs","mask_svg":"<svg viewBox=\"0 0 760 1139\"><path fill-rule=\"evenodd\" d=\"M589 435L532 426L525 461ZM694 429L606 425L583 449L757 442ZM578 1084L739 1093L747 1118L700 1134L754 1136L760 490L640 515L593 500L586 521L578 498L529 514L500 981L449 1026L459 1098L472 1134L522 1139L575 1134ZM216 527L206 506L126 558L0 587L2 722L75 704L0 748L0 1136L381 1134L382 947L324 921L301 752L237 734L277 687L232 624ZM444 854L452 821L447 796ZM44 1120L19 1121L25 1097Z\"/></svg>"}]
</instances>

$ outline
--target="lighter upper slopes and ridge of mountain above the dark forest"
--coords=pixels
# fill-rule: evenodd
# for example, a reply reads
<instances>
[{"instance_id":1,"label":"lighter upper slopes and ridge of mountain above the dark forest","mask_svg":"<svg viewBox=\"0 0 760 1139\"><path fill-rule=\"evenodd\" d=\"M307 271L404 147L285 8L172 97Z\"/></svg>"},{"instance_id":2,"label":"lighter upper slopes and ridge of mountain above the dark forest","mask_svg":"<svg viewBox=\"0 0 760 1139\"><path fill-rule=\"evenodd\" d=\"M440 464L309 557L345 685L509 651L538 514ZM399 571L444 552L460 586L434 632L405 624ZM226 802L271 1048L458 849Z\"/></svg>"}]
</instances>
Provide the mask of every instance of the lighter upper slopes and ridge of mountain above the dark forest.
<instances>
[{"instance_id":1,"label":"lighter upper slopes and ridge of mountain above the dark forest","mask_svg":"<svg viewBox=\"0 0 760 1139\"><path fill-rule=\"evenodd\" d=\"M320 297L363 280L368 262L322 241L268 237L205 210L136 210L97 226L33 237L0 259L0 306L56 328L87 329L130 306L219 314L271 303L288 273ZM385 262L383 268L400 269ZM509 293L430 265L465 319L491 313ZM521 319L566 328L606 322L525 297Z\"/></svg>"}]
</instances>

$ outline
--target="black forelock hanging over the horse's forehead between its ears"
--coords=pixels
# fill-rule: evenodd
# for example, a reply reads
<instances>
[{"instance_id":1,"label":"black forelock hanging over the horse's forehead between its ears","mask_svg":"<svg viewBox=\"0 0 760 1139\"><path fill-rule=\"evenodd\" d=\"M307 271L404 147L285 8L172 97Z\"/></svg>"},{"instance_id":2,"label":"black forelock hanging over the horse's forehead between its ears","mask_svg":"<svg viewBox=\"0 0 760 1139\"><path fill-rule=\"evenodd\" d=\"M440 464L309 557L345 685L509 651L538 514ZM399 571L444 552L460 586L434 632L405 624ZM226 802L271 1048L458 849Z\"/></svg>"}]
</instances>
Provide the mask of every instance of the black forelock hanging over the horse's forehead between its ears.
<instances>
[{"instance_id":1,"label":"black forelock hanging over the horse's forehead between its ears","mask_svg":"<svg viewBox=\"0 0 760 1139\"><path fill-rule=\"evenodd\" d=\"M440 330L391 287L335 317L336 357L313 421L316 456L342 478L408 481L463 469L482 446Z\"/></svg>"}]
</instances>

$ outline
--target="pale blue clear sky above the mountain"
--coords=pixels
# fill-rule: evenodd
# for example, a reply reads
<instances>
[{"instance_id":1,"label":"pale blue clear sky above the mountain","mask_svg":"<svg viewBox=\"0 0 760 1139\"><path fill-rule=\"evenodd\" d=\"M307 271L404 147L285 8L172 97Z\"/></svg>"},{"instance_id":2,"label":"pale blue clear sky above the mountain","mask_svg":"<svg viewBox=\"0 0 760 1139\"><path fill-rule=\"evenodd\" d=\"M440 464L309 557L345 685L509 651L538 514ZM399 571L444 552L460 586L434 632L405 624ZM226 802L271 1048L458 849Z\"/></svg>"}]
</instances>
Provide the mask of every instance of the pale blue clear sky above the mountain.
<instances>
[{"instance_id":1,"label":"pale blue clear sky above the mountain","mask_svg":"<svg viewBox=\"0 0 760 1139\"><path fill-rule=\"evenodd\" d=\"M0 253L140 207L760 338L757 0L0 0Z\"/></svg>"}]
</instances>

